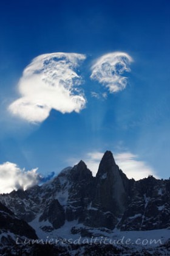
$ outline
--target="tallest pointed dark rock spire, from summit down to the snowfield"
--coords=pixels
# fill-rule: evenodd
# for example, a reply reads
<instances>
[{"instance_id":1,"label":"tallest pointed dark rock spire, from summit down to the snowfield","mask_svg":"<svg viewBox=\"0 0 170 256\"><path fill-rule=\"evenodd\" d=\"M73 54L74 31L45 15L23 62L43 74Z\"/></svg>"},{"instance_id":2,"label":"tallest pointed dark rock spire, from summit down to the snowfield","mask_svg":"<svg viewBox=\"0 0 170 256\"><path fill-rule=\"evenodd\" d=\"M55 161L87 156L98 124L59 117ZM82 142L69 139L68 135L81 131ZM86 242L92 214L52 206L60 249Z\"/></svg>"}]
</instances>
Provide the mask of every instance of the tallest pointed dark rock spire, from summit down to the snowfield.
<instances>
[{"instance_id":1,"label":"tallest pointed dark rock spire, from summit down to the snowfield","mask_svg":"<svg viewBox=\"0 0 170 256\"><path fill-rule=\"evenodd\" d=\"M128 180L115 164L112 152L106 151L94 182L94 197L87 208L84 224L92 227L114 229L127 204L124 180Z\"/></svg>"}]
</instances>

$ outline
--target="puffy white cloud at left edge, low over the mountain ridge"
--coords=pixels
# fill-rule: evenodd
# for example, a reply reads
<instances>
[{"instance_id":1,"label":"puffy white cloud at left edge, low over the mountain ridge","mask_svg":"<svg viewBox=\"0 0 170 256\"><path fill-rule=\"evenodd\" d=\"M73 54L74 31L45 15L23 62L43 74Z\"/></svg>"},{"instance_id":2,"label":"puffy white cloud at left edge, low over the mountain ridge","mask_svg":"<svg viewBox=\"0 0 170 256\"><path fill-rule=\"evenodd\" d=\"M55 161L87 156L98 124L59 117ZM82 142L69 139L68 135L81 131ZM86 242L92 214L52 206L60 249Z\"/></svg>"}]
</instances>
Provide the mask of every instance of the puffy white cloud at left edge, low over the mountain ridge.
<instances>
[{"instance_id":1,"label":"puffy white cloud at left edge, low over the mountain ridge","mask_svg":"<svg viewBox=\"0 0 170 256\"><path fill-rule=\"evenodd\" d=\"M15 163L5 162L0 165L0 193L10 193L19 188L27 189L36 185L41 176L36 172L20 169Z\"/></svg>"}]
</instances>

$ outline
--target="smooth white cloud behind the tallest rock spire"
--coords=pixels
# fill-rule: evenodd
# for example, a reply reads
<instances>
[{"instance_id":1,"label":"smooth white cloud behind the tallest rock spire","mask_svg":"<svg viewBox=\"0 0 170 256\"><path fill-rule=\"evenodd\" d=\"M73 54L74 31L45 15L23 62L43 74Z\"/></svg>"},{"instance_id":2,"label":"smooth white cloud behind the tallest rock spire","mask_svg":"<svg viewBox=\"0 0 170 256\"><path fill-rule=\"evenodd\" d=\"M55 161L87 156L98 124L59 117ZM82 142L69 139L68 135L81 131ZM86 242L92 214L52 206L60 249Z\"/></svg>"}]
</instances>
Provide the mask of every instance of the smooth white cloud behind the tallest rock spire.
<instances>
[{"instance_id":1,"label":"smooth white cloud behind the tallest rock spire","mask_svg":"<svg viewBox=\"0 0 170 256\"><path fill-rule=\"evenodd\" d=\"M90 152L83 158L87 165L87 168L92 171L93 176L97 174L98 166L100 164L101 158L103 157L103 152ZM135 180L143 179L149 175L153 175L158 178L151 166L147 165L145 162L138 160L138 156L132 154L131 152L121 152L114 154L115 162L122 169L129 179L134 178ZM72 159L72 164L79 161Z\"/></svg>"}]
</instances>

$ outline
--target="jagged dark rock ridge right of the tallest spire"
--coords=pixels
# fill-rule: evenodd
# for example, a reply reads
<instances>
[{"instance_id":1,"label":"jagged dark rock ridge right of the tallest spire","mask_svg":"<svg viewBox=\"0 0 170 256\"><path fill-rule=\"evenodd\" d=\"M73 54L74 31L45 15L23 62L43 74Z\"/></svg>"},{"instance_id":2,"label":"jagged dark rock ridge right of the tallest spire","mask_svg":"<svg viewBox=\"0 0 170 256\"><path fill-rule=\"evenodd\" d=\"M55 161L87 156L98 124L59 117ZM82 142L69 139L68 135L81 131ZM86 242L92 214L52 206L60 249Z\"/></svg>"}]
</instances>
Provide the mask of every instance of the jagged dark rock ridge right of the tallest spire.
<instances>
[{"instance_id":1,"label":"jagged dark rock ridge right of the tallest spire","mask_svg":"<svg viewBox=\"0 0 170 256\"><path fill-rule=\"evenodd\" d=\"M131 201L124 212L121 230L152 230L170 227L170 180L152 176L134 182Z\"/></svg>"}]
</instances>

